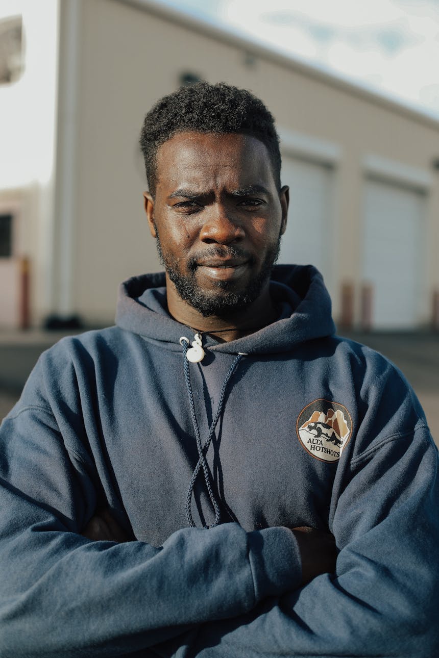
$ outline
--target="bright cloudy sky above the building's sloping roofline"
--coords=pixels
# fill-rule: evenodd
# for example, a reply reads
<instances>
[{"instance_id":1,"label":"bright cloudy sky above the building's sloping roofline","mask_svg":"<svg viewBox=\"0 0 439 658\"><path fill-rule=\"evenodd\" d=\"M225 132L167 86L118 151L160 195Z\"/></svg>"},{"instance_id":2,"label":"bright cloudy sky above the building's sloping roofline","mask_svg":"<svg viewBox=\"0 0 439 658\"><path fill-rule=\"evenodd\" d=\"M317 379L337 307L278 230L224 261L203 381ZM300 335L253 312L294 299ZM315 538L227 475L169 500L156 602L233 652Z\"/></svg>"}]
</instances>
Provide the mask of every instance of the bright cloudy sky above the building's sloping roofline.
<instances>
[{"instance_id":1,"label":"bright cloudy sky above the building's sloping roofline","mask_svg":"<svg viewBox=\"0 0 439 658\"><path fill-rule=\"evenodd\" d=\"M156 0L439 119L439 0Z\"/></svg>"}]
</instances>

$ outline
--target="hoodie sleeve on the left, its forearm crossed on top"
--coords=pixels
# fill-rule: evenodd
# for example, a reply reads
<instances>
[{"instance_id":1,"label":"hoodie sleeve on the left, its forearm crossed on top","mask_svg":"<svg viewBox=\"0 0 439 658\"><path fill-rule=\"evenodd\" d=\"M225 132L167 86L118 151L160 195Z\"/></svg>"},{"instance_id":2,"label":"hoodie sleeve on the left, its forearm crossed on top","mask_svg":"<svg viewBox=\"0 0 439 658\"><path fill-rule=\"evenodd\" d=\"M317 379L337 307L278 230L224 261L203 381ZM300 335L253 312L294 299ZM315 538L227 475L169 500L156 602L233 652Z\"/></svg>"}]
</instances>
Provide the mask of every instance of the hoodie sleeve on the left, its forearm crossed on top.
<instances>
[{"instance_id":1,"label":"hoodie sleeve on the left, its forearm crossed on top","mask_svg":"<svg viewBox=\"0 0 439 658\"><path fill-rule=\"evenodd\" d=\"M297 586L286 528L185 528L158 548L78 534L99 482L78 439L80 404L57 396L55 412L45 380L40 362L0 428L3 658L129 655Z\"/></svg>"}]
</instances>

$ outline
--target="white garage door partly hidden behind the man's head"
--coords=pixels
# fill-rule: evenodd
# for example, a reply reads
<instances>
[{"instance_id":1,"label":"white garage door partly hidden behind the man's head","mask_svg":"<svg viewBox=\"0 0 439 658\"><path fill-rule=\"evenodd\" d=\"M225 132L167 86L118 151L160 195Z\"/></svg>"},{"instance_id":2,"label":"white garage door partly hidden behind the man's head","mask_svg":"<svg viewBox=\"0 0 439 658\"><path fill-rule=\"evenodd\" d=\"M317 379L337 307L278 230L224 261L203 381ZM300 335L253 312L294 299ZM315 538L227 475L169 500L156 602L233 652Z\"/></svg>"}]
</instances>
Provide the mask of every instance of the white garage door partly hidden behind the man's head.
<instances>
[{"instance_id":1,"label":"white garage door partly hidden behind the man's head","mask_svg":"<svg viewBox=\"0 0 439 658\"><path fill-rule=\"evenodd\" d=\"M282 185L290 186L290 209L278 262L311 263L326 280L331 251L332 170L282 155L281 180Z\"/></svg>"}]
</instances>

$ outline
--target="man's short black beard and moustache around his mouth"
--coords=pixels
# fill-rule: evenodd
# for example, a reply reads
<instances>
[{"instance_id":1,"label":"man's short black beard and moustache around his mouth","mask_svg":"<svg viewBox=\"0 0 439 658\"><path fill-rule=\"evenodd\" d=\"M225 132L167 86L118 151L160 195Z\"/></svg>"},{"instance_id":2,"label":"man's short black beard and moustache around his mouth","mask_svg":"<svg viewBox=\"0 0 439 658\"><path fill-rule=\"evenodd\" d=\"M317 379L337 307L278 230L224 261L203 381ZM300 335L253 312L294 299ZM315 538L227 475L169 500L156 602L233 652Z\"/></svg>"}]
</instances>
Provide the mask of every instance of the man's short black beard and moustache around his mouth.
<instances>
[{"instance_id":1,"label":"man's short black beard and moustache around his mouth","mask_svg":"<svg viewBox=\"0 0 439 658\"><path fill-rule=\"evenodd\" d=\"M267 255L261 265L261 270L249 282L245 290L236 291L234 290L236 282L220 280L215 282L215 290L206 292L199 287L195 278L195 270L198 266L197 256L195 255L188 260L188 274L182 274L178 268L177 259L163 252L157 226L155 227L155 232L157 253L160 262L165 267L168 277L174 284L178 295L204 317L226 317L232 315L238 309L245 308L253 303L259 297L263 287L269 280L272 268L276 264L280 251L281 234L279 234L278 240L272 245L272 248L267 251ZM238 257L248 259L250 265L254 263L254 259L245 249L234 246L214 245L207 248L203 251L203 259L209 257Z\"/></svg>"}]
</instances>

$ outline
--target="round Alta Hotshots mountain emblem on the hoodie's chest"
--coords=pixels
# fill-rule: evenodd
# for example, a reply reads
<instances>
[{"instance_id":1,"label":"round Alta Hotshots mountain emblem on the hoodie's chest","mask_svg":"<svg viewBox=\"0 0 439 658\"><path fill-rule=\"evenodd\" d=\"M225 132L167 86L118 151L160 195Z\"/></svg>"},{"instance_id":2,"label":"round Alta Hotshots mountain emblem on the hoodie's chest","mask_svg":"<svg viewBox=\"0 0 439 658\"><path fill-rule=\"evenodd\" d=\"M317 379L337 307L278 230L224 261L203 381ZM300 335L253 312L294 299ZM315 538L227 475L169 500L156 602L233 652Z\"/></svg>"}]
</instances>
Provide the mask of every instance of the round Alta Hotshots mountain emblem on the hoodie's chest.
<instances>
[{"instance_id":1,"label":"round Alta Hotshots mountain emblem on the hoodie's chest","mask_svg":"<svg viewBox=\"0 0 439 658\"><path fill-rule=\"evenodd\" d=\"M351 438L352 420L344 405L321 398L299 413L296 432L305 450L315 459L338 461Z\"/></svg>"}]
</instances>

